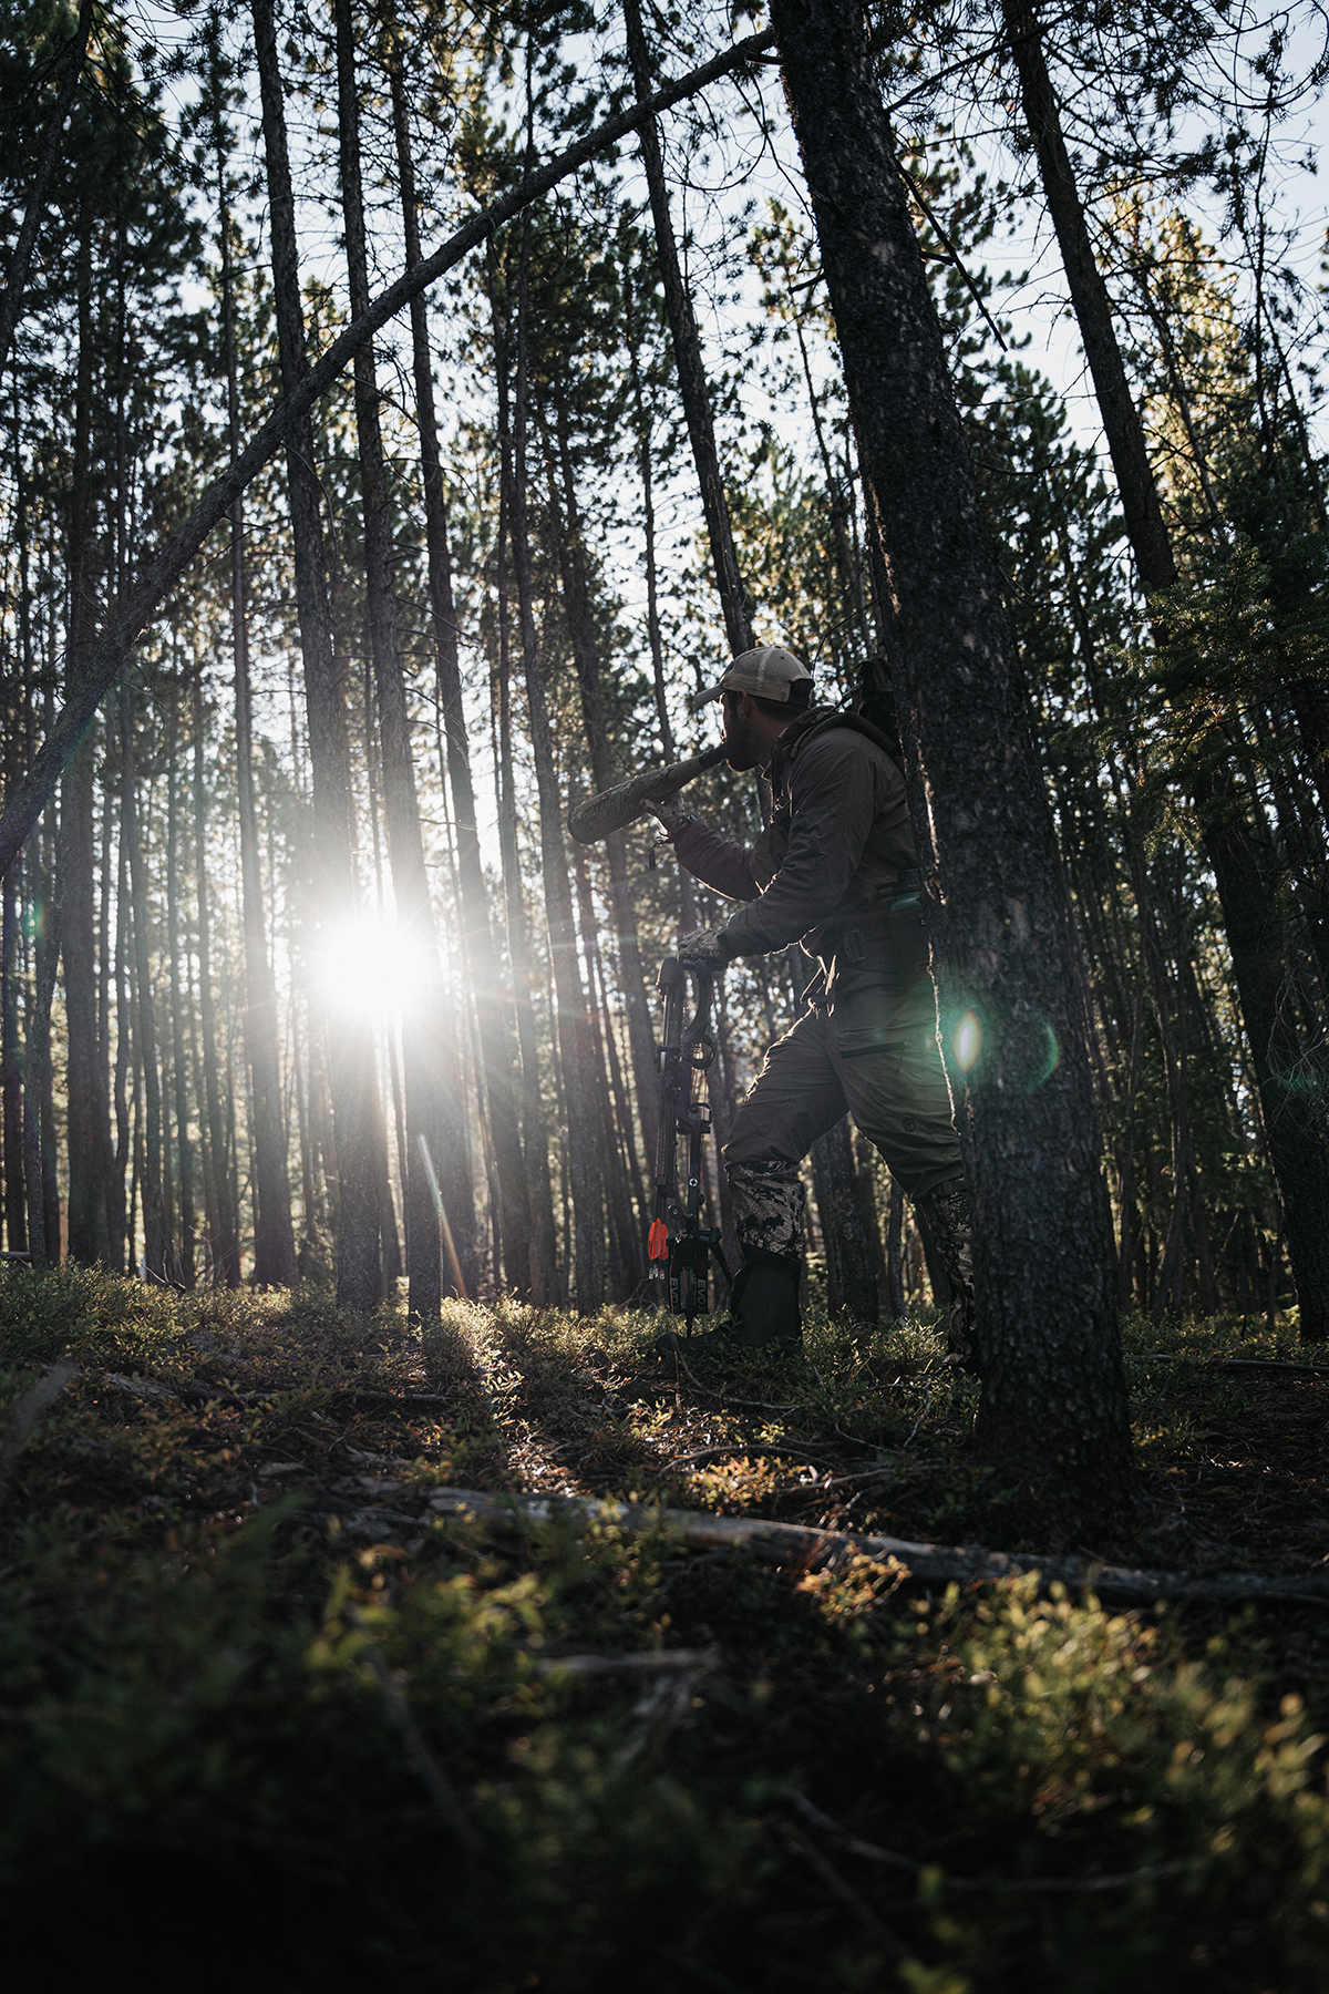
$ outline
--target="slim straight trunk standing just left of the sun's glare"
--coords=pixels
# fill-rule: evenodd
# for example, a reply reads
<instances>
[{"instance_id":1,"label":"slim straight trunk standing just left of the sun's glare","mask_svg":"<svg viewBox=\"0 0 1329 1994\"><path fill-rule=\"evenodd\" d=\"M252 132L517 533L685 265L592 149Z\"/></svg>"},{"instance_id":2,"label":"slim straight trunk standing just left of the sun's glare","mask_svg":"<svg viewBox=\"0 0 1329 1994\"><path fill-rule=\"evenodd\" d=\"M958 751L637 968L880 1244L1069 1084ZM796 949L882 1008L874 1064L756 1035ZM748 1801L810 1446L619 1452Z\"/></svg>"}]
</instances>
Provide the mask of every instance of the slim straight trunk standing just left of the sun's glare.
<instances>
[{"instance_id":1,"label":"slim straight trunk standing just left of the sun's glare","mask_svg":"<svg viewBox=\"0 0 1329 1994\"><path fill-rule=\"evenodd\" d=\"M221 233L221 325L227 369L231 463L239 455L239 381L235 371L235 299L231 279L231 213L225 160L217 148ZM245 927L245 1053L249 1061L249 1125L253 1131L253 1284L295 1284L295 1230L287 1131L281 1113L277 985L267 955L263 867L253 810L249 618L245 604L245 500L231 506L231 658L235 666L235 796L239 814L241 919Z\"/></svg>"}]
</instances>

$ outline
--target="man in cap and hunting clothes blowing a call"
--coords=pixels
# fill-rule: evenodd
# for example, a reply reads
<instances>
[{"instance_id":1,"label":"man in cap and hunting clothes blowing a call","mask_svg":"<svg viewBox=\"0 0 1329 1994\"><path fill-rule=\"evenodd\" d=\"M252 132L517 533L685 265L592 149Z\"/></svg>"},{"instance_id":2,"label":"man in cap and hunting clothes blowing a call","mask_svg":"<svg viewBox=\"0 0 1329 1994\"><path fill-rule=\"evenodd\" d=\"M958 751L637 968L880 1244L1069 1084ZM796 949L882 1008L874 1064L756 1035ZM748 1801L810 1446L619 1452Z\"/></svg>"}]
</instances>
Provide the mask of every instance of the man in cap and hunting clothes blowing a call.
<instances>
[{"instance_id":1,"label":"man in cap and hunting clothes blowing a call","mask_svg":"<svg viewBox=\"0 0 1329 1994\"><path fill-rule=\"evenodd\" d=\"M725 762L761 770L773 810L745 849L677 798L652 804L687 871L747 903L723 927L681 935L679 955L723 967L801 941L819 961L803 1015L769 1047L723 1149L743 1266L715 1334L799 1346L799 1164L849 1113L923 1212L954 1294L952 1362L976 1368L968 1192L893 744L859 714L813 706L813 674L779 646L733 658L693 708L709 700Z\"/></svg>"}]
</instances>

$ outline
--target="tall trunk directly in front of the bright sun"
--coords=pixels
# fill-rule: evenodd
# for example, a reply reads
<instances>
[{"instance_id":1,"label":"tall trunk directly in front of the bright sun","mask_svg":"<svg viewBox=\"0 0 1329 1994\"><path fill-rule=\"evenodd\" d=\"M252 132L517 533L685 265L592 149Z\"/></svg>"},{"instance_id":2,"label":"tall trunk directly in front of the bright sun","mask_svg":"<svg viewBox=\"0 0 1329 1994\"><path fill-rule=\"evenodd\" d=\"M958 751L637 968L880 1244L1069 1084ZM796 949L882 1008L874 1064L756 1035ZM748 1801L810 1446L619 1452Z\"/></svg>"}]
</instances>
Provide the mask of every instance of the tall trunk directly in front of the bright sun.
<instances>
[{"instance_id":1,"label":"tall trunk directly in front of the bright sun","mask_svg":"<svg viewBox=\"0 0 1329 1994\"><path fill-rule=\"evenodd\" d=\"M287 447L287 491L295 540L295 602L305 662L305 706L309 714L309 766L315 816L317 913L313 943L335 951L351 947L355 931L355 831L351 750L347 744L345 688L333 650L323 556L323 516L319 475L313 455L309 403L291 401L309 379L305 357L305 317L301 311L299 253L295 241L295 201L277 60L273 0L253 0L255 54L263 100L263 146L267 156L267 199L273 245L273 301L281 385L287 401L283 433L273 447ZM367 335L369 337L369 335ZM347 353L351 359L351 353ZM343 361L345 365L345 361ZM237 473L239 475L239 467ZM241 487L243 489L243 483ZM227 493L227 504L233 495ZM335 971L329 967L329 979ZM365 1019L347 1017L333 1003L325 1007L329 1037L329 1081L337 1143L337 1300L345 1308L371 1310L379 1304L379 1196L375 1184L375 1053Z\"/></svg>"}]
</instances>

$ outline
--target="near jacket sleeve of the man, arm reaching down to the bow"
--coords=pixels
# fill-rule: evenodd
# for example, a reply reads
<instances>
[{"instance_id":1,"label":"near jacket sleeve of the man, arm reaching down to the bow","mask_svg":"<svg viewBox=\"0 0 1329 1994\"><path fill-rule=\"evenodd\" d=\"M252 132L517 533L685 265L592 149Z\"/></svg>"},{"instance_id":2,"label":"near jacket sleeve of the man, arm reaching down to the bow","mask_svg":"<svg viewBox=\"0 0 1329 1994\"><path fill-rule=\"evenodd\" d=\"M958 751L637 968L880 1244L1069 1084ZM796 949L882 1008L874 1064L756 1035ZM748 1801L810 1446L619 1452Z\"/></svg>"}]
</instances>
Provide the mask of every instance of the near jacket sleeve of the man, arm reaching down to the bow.
<instances>
[{"instance_id":1,"label":"near jacket sleeve of the man, arm reaching down to the bow","mask_svg":"<svg viewBox=\"0 0 1329 1994\"><path fill-rule=\"evenodd\" d=\"M789 770L789 845L769 887L719 931L725 957L767 955L829 919L877 814L877 768L849 730L809 742Z\"/></svg>"}]
</instances>

